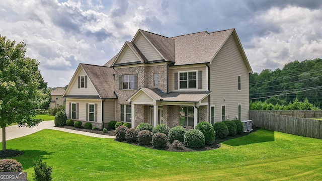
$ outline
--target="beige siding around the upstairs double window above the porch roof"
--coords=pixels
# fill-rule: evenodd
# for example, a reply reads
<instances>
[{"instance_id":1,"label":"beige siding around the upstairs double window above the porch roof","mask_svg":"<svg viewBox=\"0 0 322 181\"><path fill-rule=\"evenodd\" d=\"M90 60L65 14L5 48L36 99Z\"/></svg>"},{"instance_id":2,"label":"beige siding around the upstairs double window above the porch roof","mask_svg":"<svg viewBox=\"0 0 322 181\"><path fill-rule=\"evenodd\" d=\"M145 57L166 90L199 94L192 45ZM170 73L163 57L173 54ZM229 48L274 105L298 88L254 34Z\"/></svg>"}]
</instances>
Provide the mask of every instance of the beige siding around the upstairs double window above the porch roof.
<instances>
[{"instance_id":1,"label":"beige siding around the upstairs double window above the porch roof","mask_svg":"<svg viewBox=\"0 0 322 181\"><path fill-rule=\"evenodd\" d=\"M198 66L198 67L194 67L194 66L195 65L182 65L180 67L174 66L174 67L169 68L169 85L168 85L169 92L189 91L189 89L175 89L175 72L192 71L192 70L202 71L202 89L193 89L192 91L208 91L207 90L207 76L206 76L207 66L206 65ZM198 74L198 72L197 72L197 74Z\"/></svg>"}]
</instances>

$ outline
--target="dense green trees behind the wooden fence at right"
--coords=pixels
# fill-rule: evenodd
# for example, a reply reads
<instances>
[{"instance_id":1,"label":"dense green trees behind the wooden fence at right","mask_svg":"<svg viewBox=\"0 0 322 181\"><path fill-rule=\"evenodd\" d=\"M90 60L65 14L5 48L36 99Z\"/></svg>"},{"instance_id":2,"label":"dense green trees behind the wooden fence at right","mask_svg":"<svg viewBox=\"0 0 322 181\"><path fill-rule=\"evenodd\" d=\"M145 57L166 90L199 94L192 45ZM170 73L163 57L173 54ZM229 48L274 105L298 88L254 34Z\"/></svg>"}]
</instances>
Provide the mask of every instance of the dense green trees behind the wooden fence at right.
<instances>
[{"instance_id":1,"label":"dense green trees behind the wooden fence at right","mask_svg":"<svg viewBox=\"0 0 322 181\"><path fill-rule=\"evenodd\" d=\"M253 102L264 102L275 95L268 104L288 105L296 99L301 102L307 99L316 107L322 107L322 59L295 60L284 65L283 69L265 69L250 74L250 99Z\"/></svg>"}]
</instances>

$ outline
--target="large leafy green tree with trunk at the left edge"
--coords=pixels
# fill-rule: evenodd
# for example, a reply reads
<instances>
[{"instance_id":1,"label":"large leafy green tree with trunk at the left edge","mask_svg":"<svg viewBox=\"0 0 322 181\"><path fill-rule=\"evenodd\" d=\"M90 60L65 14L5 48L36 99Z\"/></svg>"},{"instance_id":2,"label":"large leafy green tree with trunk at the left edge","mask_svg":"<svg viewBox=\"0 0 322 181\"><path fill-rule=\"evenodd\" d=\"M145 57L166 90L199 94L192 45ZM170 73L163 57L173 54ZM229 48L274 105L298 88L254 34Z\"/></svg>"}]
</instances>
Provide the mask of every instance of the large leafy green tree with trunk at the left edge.
<instances>
[{"instance_id":1,"label":"large leafy green tree with trunk at the left edge","mask_svg":"<svg viewBox=\"0 0 322 181\"><path fill-rule=\"evenodd\" d=\"M25 56L26 44L16 45L0 36L0 127L3 131L3 150L6 150L6 126L36 126L35 108L41 108L48 100L39 62Z\"/></svg>"}]
</instances>

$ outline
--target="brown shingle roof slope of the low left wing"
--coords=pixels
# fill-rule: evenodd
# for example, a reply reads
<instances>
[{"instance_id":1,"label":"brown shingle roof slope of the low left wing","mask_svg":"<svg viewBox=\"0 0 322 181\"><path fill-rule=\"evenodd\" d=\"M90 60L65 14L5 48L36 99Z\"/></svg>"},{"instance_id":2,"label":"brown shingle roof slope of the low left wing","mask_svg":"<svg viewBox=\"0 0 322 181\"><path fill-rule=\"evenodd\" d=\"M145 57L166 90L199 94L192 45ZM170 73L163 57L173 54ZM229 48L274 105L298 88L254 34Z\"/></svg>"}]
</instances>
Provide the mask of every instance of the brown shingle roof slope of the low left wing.
<instances>
[{"instance_id":1,"label":"brown shingle roof slope of the low left wing","mask_svg":"<svg viewBox=\"0 0 322 181\"><path fill-rule=\"evenodd\" d=\"M116 98L114 94L114 69L106 66L81 63L102 99Z\"/></svg>"}]
</instances>

